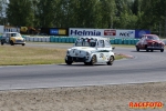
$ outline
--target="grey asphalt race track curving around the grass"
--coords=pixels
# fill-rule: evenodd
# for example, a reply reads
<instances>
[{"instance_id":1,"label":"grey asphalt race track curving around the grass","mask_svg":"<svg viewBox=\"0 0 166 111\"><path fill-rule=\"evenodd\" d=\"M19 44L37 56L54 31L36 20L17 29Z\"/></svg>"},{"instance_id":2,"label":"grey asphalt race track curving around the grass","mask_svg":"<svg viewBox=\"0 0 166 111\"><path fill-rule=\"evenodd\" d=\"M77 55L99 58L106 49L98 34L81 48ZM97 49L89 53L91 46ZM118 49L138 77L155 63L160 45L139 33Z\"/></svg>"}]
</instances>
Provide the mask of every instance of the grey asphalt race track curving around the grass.
<instances>
[{"instance_id":1,"label":"grey asphalt race track curving around the grass","mask_svg":"<svg viewBox=\"0 0 166 111\"><path fill-rule=\"evenodd\" d=\"M71 44L28 43L25 47L68 49ZM166 51L136 52L135 48L115 48L114 52L134 58L115 60L113 65L74 63L0 67L0 90L166 81Z\"/></svg>"}]
</instances>

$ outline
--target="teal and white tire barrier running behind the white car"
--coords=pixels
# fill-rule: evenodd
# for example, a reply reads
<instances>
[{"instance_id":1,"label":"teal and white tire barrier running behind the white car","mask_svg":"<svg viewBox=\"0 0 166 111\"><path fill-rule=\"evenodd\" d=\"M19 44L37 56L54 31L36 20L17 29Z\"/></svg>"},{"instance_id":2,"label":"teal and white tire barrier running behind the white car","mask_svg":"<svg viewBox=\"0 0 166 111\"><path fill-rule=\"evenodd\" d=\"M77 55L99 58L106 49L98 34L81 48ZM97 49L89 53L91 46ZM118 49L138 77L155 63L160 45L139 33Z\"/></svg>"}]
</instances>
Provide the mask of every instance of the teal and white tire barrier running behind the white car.
<instances>
[{"instance_id":1,"label":"teal and white tire barrier running behind the white car","mask_svg":"<svg viewBox=\"0 0 166 111\"><path fill-rule=\"evenodd\" d=\"M77 37L30 37L23 36L25 41L30 42L58 42L58 43L74 43ZM111 38L111 44L136 44L139 39L131 38Z\"/></svg>"}]
</instances>

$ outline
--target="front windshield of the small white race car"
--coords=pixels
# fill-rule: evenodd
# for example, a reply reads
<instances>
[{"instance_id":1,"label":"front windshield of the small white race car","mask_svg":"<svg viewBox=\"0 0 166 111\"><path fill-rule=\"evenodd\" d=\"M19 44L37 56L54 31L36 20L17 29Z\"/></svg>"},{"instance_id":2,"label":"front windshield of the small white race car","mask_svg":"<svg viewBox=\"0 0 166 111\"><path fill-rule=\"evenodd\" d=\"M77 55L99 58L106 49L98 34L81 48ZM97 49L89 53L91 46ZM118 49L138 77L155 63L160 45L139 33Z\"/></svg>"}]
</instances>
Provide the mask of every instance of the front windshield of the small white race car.
<instances>
[{"instance_id":1,"label":"front windshield of the small white race car","mask_svg":"<svg viewBox=\"0 0 166 111\"><path fill-rule=\"evenodd\" d=\"M75 47L95 47L96 41L93 39L77 39Z\"/></svg>"}]
</instances>

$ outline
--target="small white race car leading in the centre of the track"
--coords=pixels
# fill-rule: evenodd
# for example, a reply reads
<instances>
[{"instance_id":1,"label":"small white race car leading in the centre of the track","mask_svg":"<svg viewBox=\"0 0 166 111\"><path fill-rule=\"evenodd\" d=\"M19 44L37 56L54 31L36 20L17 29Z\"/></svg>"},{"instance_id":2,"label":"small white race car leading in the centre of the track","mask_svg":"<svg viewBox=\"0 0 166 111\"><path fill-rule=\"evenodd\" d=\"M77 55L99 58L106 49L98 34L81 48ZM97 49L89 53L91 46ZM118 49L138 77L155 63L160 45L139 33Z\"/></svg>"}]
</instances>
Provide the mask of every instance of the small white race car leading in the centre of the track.
<instances>
[{"instance_id":1,"label":"small white race car leading in the centre of the track","mask_svg":"<svg viewBox=\"0 0 166 111\"><path fill-rule=\"evenodd\" d=\"M84 64L93 65L105 62L112 65L115 60L113 49L107 38L80 37L74 47L68 49L65 63L84 62Z\"/></svg>"}]
</instances>

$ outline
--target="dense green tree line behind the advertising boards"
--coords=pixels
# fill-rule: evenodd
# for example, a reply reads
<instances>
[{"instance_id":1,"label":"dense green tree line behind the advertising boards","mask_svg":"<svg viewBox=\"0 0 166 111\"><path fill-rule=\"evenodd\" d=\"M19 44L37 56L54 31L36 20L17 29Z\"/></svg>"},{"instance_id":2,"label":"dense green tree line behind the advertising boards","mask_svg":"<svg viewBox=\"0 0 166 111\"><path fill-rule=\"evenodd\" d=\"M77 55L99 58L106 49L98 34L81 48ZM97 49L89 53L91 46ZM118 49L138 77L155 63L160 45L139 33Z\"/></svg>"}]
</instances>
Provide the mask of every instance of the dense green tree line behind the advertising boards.
<instances>
[{"instance_id":1,"label":"dense green tree line behind the advertising boards","mask_svg":"<svg viewBox=\"0 0 166 111\"><path fill-rule=\"evenodd\" d=\"M166 37L166 0L10 0L7 6L1 24L146 29Z\"/></svg>"}]
</instances>

